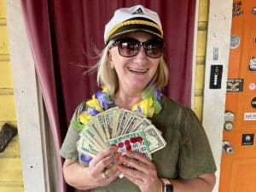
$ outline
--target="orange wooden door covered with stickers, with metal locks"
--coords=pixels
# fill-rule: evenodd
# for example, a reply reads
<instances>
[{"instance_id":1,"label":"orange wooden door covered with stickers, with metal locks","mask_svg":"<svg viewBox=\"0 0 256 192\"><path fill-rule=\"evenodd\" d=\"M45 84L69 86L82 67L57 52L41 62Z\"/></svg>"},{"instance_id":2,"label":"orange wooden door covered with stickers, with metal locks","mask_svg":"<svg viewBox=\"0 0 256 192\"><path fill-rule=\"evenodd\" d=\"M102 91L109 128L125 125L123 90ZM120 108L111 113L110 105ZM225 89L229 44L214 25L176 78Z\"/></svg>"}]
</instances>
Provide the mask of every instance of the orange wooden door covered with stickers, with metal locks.
<instances>
[{"instance_id":1,"label":"orange wooden door covered with stickers, with metal locks","mask_svg":"<svg viewBox=\"0 0 256 192\"><path fill-rule=\"evenodd\" d=\"M256 1L233 2L219 192L256 192Z\"/></svg>"}]
</instances>

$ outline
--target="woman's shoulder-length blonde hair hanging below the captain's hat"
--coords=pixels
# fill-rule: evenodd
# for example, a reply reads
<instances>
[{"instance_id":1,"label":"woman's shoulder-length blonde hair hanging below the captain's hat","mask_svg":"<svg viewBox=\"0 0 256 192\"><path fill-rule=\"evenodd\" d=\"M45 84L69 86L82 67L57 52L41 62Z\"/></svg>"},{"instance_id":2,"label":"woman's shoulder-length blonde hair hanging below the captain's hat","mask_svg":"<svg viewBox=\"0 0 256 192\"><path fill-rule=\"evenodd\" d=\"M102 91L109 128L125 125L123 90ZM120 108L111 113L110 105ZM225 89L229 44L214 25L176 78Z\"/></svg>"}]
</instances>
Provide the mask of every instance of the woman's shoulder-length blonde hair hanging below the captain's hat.
<instances>
[{"instance_id":1,"label":"woman's shoulder-length blonde hair hanging below the captain's hat","mask_svg":"<svg viewBox=\"0 0 256 192\"><path fill-rule=\"evenodd\" d=\"M114 68L111 68L108 62L108 50L110 45L112 44L113 40L111 40L102 50L100 60L96 63L94 67L90 68L89 71L97 70L97 84L99 86L106 86L109 95L113 99L114 94L119 89L119 79ZM152 82L155 83L155 89L160 89L166 86L166 84L168 84L168 79L168 67L166 66L166 61L164 60L163 56L161 56L159 66L152 79Z\"/></svg>"}]
</instances>

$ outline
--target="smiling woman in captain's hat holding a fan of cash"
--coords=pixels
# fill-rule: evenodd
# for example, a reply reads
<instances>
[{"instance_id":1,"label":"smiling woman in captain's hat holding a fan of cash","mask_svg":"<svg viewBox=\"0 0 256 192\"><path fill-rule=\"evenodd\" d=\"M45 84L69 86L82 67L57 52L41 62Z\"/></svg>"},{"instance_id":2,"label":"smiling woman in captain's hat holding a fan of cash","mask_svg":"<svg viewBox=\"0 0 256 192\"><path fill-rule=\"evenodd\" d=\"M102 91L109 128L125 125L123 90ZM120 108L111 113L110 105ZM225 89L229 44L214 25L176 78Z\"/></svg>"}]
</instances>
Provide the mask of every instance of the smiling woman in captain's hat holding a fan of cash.
<instances>
[{"instance_id":1,"label":"smiling woman in captain's hat holding a fan of cash","mask_svg":"<svg viewBox=\"0 0 256 192\"><path fill-rule=\"evenodd\" d=\"M92 68L103 90L78 106L61 147L67 183L96 192L212 191L216 167L203 127L160 93L169 75L158 14L117 9L104 41Z\"/></svg>"}]
</instances>

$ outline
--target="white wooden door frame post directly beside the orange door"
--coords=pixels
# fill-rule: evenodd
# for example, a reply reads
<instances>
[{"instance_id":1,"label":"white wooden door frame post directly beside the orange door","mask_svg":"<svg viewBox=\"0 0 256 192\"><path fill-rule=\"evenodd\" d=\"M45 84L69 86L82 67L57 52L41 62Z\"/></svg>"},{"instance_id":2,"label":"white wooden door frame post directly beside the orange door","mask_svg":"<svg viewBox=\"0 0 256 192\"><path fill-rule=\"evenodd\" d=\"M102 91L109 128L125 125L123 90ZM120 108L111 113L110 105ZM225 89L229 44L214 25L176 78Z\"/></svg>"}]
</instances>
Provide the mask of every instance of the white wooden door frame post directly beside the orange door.
<instances>
[{"instance_id":1,"label":"white wooden door frame post directly beside the orange door","mask_svg":"<svg viewBox=\"0 0 256 192\"><path fill-rule=\"evenodd\" d=\"M221 6L220 6L221 5ZM217 183L213 191L218 191L226 82L230 57L230 32L233 0L210 0L207 30L207 54L205 68L205 87L203 99L202 124L207 131L217 165ZM213 58L213 50L218 49L218 59ZM217 52L215 52L217 53ZM212 65L223 65L221 89L209 89Z\"/></svg>"}]
</instances>

